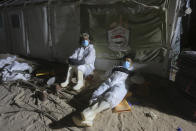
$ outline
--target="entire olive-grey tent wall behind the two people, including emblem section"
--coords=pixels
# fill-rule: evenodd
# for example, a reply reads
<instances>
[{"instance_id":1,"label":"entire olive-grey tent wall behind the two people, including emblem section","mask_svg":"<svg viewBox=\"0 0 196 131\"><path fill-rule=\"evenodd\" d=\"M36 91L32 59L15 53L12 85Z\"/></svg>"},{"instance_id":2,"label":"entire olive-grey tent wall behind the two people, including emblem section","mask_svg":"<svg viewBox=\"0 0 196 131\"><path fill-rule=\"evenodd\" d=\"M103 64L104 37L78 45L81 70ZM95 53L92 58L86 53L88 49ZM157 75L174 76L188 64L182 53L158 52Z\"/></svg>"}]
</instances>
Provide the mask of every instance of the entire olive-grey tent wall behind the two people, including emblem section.
<instances>
[{"instance_id":1,"label":"entire olive-grey tent wall behind the two people, including emblem section","mask_svg":"<svg viewBox=\"0 0 196 131\"><path fill-rule=\"evenodd\" d=\"M18 0L13 4L23 4L1 9L5 12L1 11L6 16L4 21L7 28L11 27L9 13L15 10L18 10L24 27L17 32L7 29L8 44L5 45L12 46L12 53L64 62L78 47L80 32L88 32L98 59L112 61L134 54L135 62L155 62L164 64L166 68L169 60L165 54L171 49L175 35L176 14L179 12L176 8L180 1ZM36 28L35 20L39 28ZM115 29L120 29L121 34L109 33ZM123 31L126 33L122 34ZM3 36L1 33L0 38ZM109 36L112 36L112 40ZM176 49L175 44L173 47ZM164 63L158 63L162 61Z\"/></svg>"}]
</instances>

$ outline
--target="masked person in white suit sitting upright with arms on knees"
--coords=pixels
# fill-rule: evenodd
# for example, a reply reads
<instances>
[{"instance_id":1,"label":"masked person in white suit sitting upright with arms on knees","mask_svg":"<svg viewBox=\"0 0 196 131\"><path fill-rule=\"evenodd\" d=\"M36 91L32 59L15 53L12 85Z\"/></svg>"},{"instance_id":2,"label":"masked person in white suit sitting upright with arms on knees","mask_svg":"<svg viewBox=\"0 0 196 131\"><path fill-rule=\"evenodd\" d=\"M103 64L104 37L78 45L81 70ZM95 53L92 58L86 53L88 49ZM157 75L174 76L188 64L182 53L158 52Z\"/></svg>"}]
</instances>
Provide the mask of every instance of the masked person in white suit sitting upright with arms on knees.
<instances>
[{"instance_id":1,"label":"masked person in white suit sitting upright with arms on knees","mask_svg":"<svg viewBox=\"0 0 196 131\"><path fill-rule=\"evenodd\" d=\"M95 62L95 49L90 44L89 35L87 33L82 34L81 47L75 50L75 52L69 57L69 68L67 72L67 78L65 82L61 83L62 87L66 87L70 83L74 71L77 74L77 84L73 87L78 91L84 86L83 77L90 75L94 67Z\"/></svg>"}]
</instances>

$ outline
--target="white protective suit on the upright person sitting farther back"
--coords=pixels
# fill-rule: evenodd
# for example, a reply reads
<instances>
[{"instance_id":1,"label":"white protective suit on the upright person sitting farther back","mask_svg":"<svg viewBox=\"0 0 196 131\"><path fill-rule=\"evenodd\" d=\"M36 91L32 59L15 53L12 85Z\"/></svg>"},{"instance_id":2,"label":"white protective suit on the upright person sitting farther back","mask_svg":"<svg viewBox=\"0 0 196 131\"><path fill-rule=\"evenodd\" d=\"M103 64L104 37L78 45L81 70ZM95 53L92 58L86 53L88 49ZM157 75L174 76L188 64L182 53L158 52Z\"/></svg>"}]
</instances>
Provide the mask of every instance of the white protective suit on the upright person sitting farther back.
<instances>
[{"instance_id":1,"label":"white protective suit on the upright person sitting farther back","mask_svg":"<svg viewBox=\"0 0 196 131\"><path fill-rule=\"evenodd\" d=\"M80 47L76 49L73 55L71 55L69 58L76 60L85 60L84 65L77 66L77 69L82 71L85 76L91 74L95 69L94 63L96 54L92 44L89 44L89 46L87 46L86 48Z\"/></svg>"}]
</instances>

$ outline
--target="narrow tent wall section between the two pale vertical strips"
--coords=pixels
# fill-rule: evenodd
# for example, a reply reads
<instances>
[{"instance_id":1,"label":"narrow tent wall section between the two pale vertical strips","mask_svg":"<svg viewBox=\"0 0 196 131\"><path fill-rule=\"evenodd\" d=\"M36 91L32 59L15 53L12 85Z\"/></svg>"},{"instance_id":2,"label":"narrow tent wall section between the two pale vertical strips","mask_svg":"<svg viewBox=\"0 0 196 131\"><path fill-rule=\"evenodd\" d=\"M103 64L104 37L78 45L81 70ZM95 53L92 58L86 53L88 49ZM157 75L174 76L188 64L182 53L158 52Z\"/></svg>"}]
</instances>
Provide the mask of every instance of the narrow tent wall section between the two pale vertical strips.
<instances>
[{"instance_id":1,"label":"narrow tent wall section between the two pale vertical strips","mask_svg":"<svg viewBox=\"0 0 196 131\"><path fill-rule=\"evenodd\" d=\"M43 59L51 59L48 45L48 18L46 6L25 8L23 12L27 37L26 44L28 44L29 47L28 55Z\"/></svg>"}]
</instances>

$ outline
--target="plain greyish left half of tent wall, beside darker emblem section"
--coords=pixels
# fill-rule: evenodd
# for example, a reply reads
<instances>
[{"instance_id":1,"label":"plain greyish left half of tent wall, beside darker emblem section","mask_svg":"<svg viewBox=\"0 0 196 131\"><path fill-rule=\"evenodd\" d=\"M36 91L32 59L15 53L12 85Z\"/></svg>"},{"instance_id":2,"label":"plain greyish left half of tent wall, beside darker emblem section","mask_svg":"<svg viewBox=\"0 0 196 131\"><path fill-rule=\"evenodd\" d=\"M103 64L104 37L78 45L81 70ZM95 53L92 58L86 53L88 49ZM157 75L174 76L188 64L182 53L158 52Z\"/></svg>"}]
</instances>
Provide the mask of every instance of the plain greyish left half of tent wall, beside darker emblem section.
<instances>
[{"instance_id":1,"label":"plain greyish left half of tent wall, beside darker emblem section","mask_svg":"<svg viewBox=\"0 0 196 131\"><path fill-rule=\"evenodd\" d=\"M80 8L63 2L3 8L0 51L65 62L79 46Z\"/></svg>"}]
</instances>

